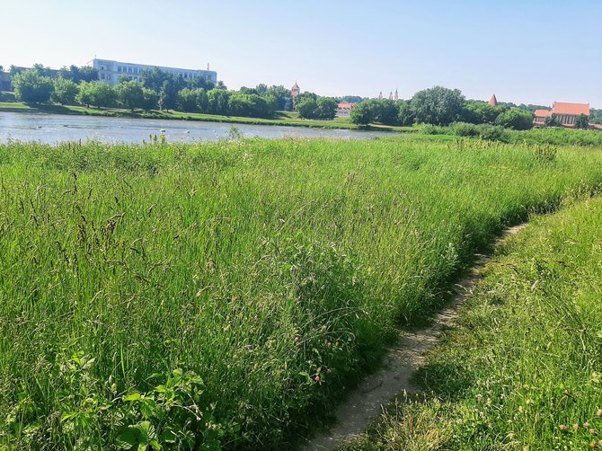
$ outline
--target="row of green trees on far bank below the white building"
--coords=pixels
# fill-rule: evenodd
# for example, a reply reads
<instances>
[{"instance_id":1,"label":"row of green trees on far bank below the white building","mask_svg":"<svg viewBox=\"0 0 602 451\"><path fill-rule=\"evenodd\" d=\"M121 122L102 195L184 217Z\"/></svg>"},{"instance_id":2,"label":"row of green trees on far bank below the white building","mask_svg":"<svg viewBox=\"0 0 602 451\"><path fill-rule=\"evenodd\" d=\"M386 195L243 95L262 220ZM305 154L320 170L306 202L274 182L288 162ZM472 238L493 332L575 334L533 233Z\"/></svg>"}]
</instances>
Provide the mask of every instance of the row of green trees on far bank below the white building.
<instances>
[{"instance_id":1,"label":"row of green trees on far bank below the white building","mask_svg":"<svg viewBox=\"0 0 602 451\"><path fill-rule=\"evenodd\" d=\"M122 107L128 110L160 110L200 112L226 116L272 118L290 102L290 91L284 86L259 84L228 91L222 82L214 86L203 77L184 79L158 67L142 71L140 81L121 75L112 86L98 80L92 67L63 68L58 71L41 65L22 70L11 66L15 98L39 104L56 102L61 105L80 104L87 107ZM314 94L315 95L315 94ZM302 117L332 119L336 102L318 101L314 110L304 108Z\"/></svg>"}]
</instances>

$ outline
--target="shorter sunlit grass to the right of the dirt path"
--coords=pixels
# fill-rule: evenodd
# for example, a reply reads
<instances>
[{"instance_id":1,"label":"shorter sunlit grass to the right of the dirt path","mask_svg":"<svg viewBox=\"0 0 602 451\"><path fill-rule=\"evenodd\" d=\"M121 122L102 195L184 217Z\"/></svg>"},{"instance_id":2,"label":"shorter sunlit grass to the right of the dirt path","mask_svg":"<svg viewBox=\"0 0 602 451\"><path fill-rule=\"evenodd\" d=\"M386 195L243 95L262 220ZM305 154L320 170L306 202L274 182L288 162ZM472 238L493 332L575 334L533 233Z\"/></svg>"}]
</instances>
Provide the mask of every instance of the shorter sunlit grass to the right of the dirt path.
<instances>
[{"instance_id":1,"label":"shorter sunlit grass to the right of the dirt path","mask_svg":"<svg viewBox=\"0 0 602 451\"><path fill-rule=\"evenodd\" d=\"M602 448L602 199L533 224L488 266L458 326L345 449Z\"/></svg>"}]
</instances>

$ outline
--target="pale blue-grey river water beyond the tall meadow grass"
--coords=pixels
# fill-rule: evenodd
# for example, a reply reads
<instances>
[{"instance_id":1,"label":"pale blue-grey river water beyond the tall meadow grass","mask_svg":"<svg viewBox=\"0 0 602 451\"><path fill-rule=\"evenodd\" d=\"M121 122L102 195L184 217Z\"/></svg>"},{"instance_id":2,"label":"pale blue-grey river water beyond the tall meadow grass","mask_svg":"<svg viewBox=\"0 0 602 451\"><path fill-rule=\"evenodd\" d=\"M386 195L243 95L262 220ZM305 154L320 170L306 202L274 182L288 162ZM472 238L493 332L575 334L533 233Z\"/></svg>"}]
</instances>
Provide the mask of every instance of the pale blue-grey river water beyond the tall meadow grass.
<instances>
[{"instance_id":1,"label":"pale blue-grey river water beyond the tall meadow grass","mask_svg":"<svg viewBox=\"0 0 602 451\"><path fill-rule=\"evenodd\" d=\"M62 141L91 139L103 143L137 143L165 130L168 143L216 141L227 137L235 126L244 137L337 137L367 138L389 135L387 132L344 129L280 127L270 125L225 124L192 120L127 119L101 116L0 112L0 143L9 139L57 144Z\"/></svg>"}]
</instances>

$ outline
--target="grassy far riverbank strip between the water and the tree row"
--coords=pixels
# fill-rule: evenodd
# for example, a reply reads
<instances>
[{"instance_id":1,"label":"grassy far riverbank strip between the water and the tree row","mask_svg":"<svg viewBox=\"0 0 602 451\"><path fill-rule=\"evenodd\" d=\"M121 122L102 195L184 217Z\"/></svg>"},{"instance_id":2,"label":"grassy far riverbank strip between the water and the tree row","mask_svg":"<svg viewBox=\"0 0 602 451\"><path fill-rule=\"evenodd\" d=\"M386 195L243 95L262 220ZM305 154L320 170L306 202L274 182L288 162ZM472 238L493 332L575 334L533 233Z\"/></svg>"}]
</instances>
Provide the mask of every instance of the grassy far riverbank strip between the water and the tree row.
<instances>
[{"instance_id":1,"label":"grassy far riverbank strip between the water and the tree row","mask_svg":"<svg viewBox=\"0 0 602 451\"><path fill-rule=\"evenodd\" d=\"M51 114L66 115L86 115L86 116L107 116L113 118L134 118L134 119L177 119L177 120L195 120L203 122L223 122L232 124L250 124L250 125L276 125L286 127L305 127L305 128L341 128L350 130L371 130L371 131L391 131L391 132L414 132L416 128L395 127L380 124L370 124L359 126L353 124L349 118L336 118L333 120L313 120L299 119L297 113L279 111L275 119L261 118L243 118L239 116L220 116L217 114L203 114L181 111L129 111L120 108L87 108L81 106L63 106L63 105L37 105L31 106L22 102L0 102L0 112L40 112Z\"/></svg>"}]
</instances>

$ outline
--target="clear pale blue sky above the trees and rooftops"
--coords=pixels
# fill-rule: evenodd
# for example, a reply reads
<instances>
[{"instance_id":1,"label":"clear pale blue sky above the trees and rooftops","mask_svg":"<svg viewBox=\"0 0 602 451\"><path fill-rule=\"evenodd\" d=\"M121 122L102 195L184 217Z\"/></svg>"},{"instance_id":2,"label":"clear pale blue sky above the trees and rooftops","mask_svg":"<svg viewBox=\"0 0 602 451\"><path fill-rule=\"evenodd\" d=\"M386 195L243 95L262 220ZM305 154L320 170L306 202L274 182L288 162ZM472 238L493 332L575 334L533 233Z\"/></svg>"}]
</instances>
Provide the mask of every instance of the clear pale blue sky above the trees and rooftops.
<instances>
[{"instance_id":1,"label":"clear pale blue sky above the trees and rooftops","mask_svg":"<svg viewBox=\"0 0 602 451\"><path fill-rule=\"evenodd\" d=\"M205 68L229 88L602 108L601 0L2 0L0 65Z\"/></svg>"}]
</instances>

